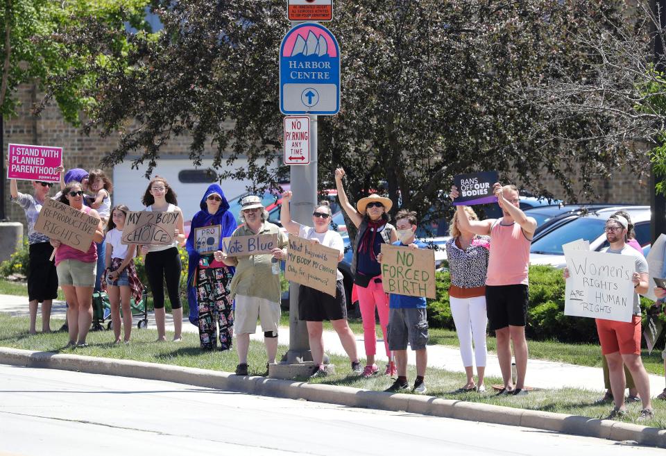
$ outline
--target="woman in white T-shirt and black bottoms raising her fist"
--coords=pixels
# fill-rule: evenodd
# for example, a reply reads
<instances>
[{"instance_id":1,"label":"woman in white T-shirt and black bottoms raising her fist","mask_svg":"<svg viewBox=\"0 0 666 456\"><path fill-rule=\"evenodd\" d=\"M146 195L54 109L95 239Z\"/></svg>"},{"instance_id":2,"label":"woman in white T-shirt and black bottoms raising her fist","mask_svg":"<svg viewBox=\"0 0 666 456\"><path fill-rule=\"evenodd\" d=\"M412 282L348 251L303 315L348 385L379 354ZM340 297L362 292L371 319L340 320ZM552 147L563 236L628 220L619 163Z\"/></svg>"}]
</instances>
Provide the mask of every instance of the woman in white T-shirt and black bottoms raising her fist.
<instances>
[{"instance_id":1,"label":"woman in white T-shirt and black bottoms raising her fist","mask_svg":"<svg viewBox=\"0 0 666 456\"><path fill-rule=\"evenodd\" d=\"M336 248L340 251L338 261L345 254L345 245L342 236L336 231L329 230L331 224L331 205L328 201L321 201L312 213L312 227L301 225L291 220L289 210L291 192L282 194L282 207L280 208L280 222L287 233L311 239L327 247ZM337 271L335 296L320 292L317 289L300 285L298 289L298 318L305 320L307 324L307 336L310 341L312 360L317 366L313 377L324 377L327 375L323 365L324 339L323 321L330 320L335 332L338 333L345 352L352 362L352 372L361 373L361 362L356 351L356 340L354 333L347 324L347 300L345 299L345 287L342 282L342 273Z\"/></svg>"}]
</instances>

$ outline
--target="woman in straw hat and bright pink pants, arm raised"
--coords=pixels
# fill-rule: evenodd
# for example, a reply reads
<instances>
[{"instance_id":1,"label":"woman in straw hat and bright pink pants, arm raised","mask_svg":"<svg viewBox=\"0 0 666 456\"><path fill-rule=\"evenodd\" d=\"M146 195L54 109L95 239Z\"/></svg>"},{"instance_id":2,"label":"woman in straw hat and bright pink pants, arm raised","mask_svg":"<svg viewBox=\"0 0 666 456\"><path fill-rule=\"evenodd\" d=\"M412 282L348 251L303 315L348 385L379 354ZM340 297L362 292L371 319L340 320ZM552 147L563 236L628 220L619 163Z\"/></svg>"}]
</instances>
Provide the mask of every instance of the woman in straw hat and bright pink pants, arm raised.
<instances>
[{"instance_id":1,"label":"woman in straw hat and bright pink pants, arm raised","mask_svg":"<svg viewBox=\"0 0 666 456\"><path fill-rule=\"evenodd\" d=\"M335 170L335 185L338 189L340 205L352 223L358 228L351 269L354 275L354 286L359 296L361 319L363 320L366 348L366 367L363 376L369 378L379 371L377 364L375 364L375 353L377 351L375 307L377 307L379 325L382 326L382 333L384 334L386 356L390 357L386 340L388 296L384 293L382 286L382 273L379 262L377 262L377 255L381 251L382 244L397 242L398 235L393 225L388 223L388 211L391 210L393 202L383 196L371 194L366 198L361 198L355 208L347 199L347 194L345 194L345 189L342 186L344 176L344 169L338 168ZM391 376L398 375L392 363L386 364L385 373Z\"/></svg>"}]
</instances>

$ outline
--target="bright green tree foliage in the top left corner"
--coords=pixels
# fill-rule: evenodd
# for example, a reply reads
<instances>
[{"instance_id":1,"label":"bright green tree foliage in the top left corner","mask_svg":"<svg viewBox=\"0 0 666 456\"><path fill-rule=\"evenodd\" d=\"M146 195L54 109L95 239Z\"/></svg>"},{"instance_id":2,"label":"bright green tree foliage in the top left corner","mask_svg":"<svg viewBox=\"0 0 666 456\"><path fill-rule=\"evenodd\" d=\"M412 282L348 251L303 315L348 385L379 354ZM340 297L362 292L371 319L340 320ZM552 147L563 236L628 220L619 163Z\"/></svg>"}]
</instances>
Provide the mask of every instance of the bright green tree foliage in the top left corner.
<instances>
[{"instance_id":1,"label":"bright green tree foliage in the top left corner","mask_svg":"<svg viewBox=\"0 0 666 456\"><path fill-rule=\"evenodd\" d=\"M15 115L17 100L13 96L22 83L37 83L40 88L51 79L49 99L53 97L67 121L76 124L81 110L89 100L81 92L94 76L76 71L82 59L98 57L95 48L85 55L67 54L66 36L77 24L88 18L105 24L108 31L123 31L125 24L146 28L144 8L148 0L5 0L0 8L0 49L2 77L0 82L0 114ZM126 42L124 34L116 35L117 47ZM99 49L97 49L99 51ZM60 76L68 74L68 78Z\"/></svg>"}]
</instances>

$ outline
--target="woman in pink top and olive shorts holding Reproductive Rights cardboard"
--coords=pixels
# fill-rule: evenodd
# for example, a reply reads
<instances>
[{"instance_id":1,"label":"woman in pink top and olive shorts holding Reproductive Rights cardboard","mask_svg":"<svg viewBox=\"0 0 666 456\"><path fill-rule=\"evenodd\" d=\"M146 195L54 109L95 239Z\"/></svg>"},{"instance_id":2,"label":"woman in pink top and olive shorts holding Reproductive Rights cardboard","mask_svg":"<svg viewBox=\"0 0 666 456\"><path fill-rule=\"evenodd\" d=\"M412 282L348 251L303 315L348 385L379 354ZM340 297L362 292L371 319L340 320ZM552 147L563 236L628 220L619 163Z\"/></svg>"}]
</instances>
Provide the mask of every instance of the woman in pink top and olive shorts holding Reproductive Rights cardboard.
<instances>
[{"instance_id":1,"label":"woman in pink top and olive shorts holding Reproductive Rights cardboard","mask_svg":"<svg viewBox=\"0 0 666 456\"><path fill-rule=\"evenodd\" d=\"M74 181L65 186L59 199L60 203L80 210L90 217L99 219L97 211L83 205L83 186ZM67 346L85 347L85 337L88 335L92 323L92 290L95 286L97 267L97 247L95 242L101 242L104 228L101 219L95 230L93 242L88 250L82 253L74 247L62 244L51 239L51 245L56 248L56 271L58 282L67 299L67 325L69 326L69 343ZM102 273L102 271L99 271Z\"/></svg>"}]
</instances>

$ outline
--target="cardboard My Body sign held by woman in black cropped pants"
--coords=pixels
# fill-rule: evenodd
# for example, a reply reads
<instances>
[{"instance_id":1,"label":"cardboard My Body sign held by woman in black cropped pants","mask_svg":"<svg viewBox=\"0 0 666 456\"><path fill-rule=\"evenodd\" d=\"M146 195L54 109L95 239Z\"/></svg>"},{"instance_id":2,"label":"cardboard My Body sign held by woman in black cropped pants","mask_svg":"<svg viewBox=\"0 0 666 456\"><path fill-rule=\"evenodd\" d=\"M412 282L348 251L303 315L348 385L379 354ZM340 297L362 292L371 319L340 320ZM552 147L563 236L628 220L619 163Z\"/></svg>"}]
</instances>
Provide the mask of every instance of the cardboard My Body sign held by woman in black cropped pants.
<instances>
[{"instance_id":1,"label":"cardboard My Body sign held by woman in black cropped pants","mask_svg":"<svg viewBox=\"0 0 666 456\"><path fill-rule=\"evenodd\" d=\"M169 245L176 237L178 212L152 212L148 210L127 213L123 244Z\"/></svg>"}]
</instances>

